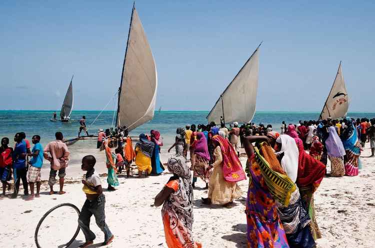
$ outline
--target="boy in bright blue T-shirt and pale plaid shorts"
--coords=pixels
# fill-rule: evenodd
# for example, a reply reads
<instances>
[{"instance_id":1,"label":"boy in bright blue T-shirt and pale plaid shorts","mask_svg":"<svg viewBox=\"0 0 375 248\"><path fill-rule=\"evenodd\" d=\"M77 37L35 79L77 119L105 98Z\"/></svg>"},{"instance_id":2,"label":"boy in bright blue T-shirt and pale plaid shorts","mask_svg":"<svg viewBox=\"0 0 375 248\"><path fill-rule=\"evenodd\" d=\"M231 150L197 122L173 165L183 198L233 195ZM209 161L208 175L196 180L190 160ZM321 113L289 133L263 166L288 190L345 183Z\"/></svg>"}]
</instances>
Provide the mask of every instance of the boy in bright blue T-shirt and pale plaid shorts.
<instances>
[{"instance_id":1,"label":"boy in bright blue T-shirt and pale plaid shorts","mask_svg":"<svg viewBox=\"0 0 375 248\"><path fill-rule=\"evenodd\" d=\"M28 164L30 167L27 171L27 182L30 185L31 196L26 200L32 200L34 197L40 197L40 170L43 165L43 147L40 145L40 136L34 135L31 140L34 146L32 147L31 153L27 156L31 157ZM34 184L36 183L36 195L34 195Z\"/></svg>"}]
</instances>

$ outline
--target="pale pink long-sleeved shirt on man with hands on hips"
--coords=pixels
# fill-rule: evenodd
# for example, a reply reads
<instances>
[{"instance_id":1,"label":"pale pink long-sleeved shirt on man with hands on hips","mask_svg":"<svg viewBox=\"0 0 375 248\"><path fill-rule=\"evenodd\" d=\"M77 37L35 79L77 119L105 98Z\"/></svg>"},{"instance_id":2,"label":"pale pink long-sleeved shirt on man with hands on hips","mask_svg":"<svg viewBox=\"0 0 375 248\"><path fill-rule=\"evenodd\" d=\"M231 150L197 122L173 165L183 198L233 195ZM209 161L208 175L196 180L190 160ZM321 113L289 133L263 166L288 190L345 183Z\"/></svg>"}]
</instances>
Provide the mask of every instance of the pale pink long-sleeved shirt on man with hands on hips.
<instances>
[{"instance_id":1,"label":"pale pink long-sleeved shirt on man with hands on hips","mask_svg":"<svg viewBox=\"0 0 375 248\"><path fill-rule=\"evenodd\" d=\"M66 144L61 140L55 140L45 146L43 155L51 163L52 170L59 170L60 168L67 167L69 154Z\"/></svg>"}]
</instances>

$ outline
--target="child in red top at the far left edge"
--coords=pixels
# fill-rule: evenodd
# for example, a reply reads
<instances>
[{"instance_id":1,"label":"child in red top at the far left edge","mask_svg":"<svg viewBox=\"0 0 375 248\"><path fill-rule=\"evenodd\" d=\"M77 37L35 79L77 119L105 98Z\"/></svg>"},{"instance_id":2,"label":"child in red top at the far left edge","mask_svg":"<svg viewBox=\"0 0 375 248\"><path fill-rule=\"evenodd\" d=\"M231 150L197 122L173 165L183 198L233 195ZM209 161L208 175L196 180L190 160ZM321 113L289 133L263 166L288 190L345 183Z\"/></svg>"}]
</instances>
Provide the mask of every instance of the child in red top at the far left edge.
<instances>
[{"instance_id":1,"label":"child in red top at the far left edge","mask_svg":"<svg viewBox=\"0 0 375 248\"><path fill-rule=\"evenodd\" d=\"M10 184L7 182L11 178L11 165L13 163L12 153L13 149L8 147L9 139L4 137L1 139L0 146L0 179L2 183L2 196L5 196L6 185L10 190Z\"/></svg>"}]
</instances>

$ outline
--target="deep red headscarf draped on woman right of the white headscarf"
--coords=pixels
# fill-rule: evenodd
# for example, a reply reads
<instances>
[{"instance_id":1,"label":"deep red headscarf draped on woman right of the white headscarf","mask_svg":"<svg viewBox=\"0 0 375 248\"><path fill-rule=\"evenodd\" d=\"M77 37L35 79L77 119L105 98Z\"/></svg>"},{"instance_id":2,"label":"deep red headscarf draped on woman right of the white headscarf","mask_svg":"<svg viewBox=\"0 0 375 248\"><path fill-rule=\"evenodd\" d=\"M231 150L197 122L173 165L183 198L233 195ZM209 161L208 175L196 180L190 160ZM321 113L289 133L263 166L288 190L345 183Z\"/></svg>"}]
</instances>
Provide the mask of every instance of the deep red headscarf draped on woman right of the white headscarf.
<instances>
[{"instance_id":1,"label":"deep red headscarf draped on woman right of the white headscarf","mask_svg":"<svg viewBox=\"0 0 375 248\"><path fill-rule=\"evenodd\" d=\"M314 192L324 177L325 165L304 151L303 143L299 138L294 140L299 152L297 186L298 188L311 187L312 192Z\"/></svg>"}]
</instances>

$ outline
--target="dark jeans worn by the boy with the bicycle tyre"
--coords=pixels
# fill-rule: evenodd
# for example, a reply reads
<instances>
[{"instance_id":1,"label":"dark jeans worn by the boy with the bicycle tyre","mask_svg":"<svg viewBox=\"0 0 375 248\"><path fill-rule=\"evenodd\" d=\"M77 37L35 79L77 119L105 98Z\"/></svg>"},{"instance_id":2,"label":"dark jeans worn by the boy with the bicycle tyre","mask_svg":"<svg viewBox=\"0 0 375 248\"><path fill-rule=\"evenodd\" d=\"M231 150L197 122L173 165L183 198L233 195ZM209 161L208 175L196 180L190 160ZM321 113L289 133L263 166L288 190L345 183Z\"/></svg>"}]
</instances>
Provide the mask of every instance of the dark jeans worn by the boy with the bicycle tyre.
<instances>
[{"instance_id":1,"label":"dark jeans worn by the boy with the bicycle tyre","mask_svg":"<svg viewBox=\"0 0 375 248\"><path fill-rule=\"evenodd\" d=\"M92 215L95 217L96 225L104 233L104 243L112 237L112 233L105 223L104 205L105 197L103 194L98 196L95 200L86 200L84 202L79 214L78 225L86 241L93 241L96 238L95 234L90 230L90 219Z\"/></svg>"}]
</instances>

